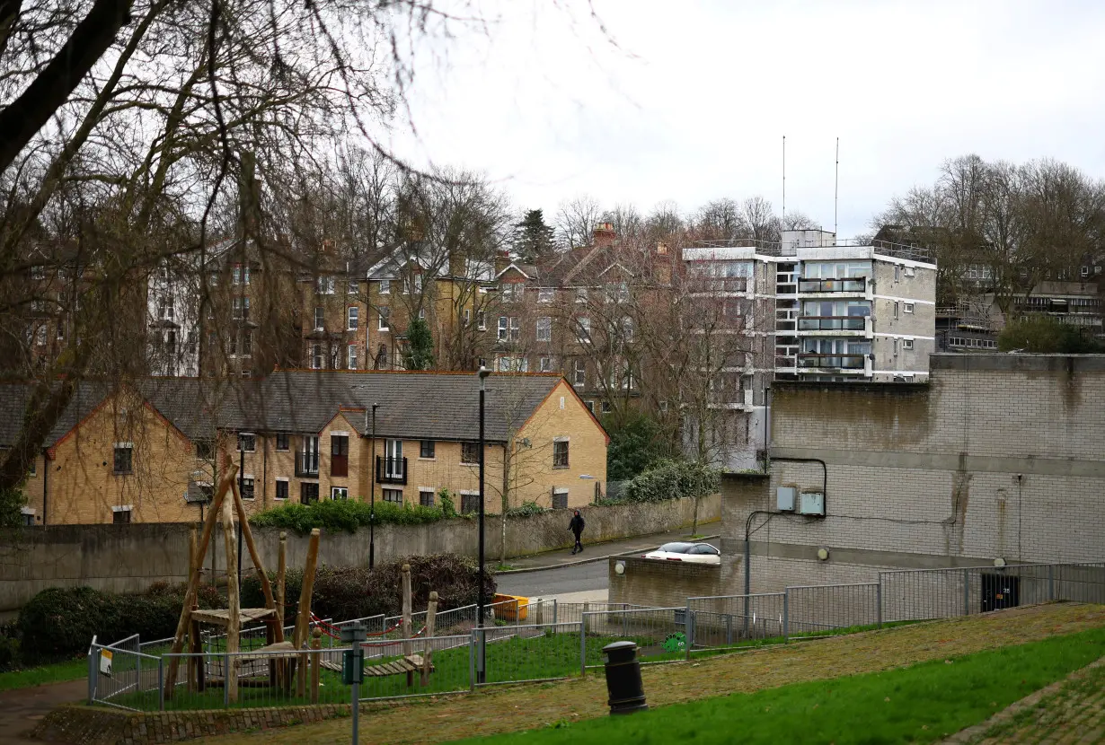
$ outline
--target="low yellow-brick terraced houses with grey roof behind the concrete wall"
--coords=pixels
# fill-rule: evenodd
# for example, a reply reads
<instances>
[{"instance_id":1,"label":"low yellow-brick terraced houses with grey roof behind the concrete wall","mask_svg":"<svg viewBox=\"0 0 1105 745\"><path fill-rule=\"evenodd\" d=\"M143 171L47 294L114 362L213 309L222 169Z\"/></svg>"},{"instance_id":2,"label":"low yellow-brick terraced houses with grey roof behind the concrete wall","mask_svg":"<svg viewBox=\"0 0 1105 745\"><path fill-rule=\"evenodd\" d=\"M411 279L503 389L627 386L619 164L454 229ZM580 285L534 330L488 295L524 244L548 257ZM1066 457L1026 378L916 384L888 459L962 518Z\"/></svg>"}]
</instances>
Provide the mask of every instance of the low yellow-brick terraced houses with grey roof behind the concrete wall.
<instances>
[{"instance_id":1,"label":"low yellow-brick terraced houses with grey roof behind the concrete wall","mask_svg":"<svg viewBox=\"0 0 1105 745\"><path fill-rule=\"evenodd\" d=\"M572 508L604 490L608 437L559 375L487 379L485 509ZM0 445L29 390L0 392ZM373 438L375 405L375 438ZM225 453L250 512L325 499L478 508L476 376L278 371L264 381L83 383L35 459L28 524L199 520Z\"/></svg>"}]
</instances>

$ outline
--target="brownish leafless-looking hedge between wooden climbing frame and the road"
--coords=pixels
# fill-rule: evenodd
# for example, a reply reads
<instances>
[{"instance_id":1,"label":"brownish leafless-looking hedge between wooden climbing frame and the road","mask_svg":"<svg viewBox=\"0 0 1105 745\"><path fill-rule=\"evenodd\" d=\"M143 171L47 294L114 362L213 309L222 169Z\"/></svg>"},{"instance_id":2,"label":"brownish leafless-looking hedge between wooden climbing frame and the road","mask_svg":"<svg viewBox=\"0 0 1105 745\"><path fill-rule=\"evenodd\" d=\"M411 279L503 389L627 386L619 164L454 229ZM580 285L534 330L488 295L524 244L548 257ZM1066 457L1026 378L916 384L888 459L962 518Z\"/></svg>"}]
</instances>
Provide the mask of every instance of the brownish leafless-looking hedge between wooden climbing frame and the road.
<instances>
[{"instance_id":1,"label":"brownish leafless-looking hedge between wooden climbing frame and the road","mask_svg":"<svg viewBox=\"0 0 1105 745\"><path fill-rule=\"evenodd\" d=\"M415 610L425 609L432 590L438 592L438 608L449 610L472 605L478 598L480 568L471 558L455 554L408 556L372 571L364 566L322 566L315 573L312 610L319 618L348 620L402 610L401 567L411 565L411 597ZM275 582L270 573L270 582ZM284 577L285 618L292 618L299 602L303 571L290 571ZM485 575L484 589L495 594L495 579ZM242 606L264 606L261 582L255 576L242 578ZM291 622L291 621L288 621Z\"/></svg>"}]
</instances>

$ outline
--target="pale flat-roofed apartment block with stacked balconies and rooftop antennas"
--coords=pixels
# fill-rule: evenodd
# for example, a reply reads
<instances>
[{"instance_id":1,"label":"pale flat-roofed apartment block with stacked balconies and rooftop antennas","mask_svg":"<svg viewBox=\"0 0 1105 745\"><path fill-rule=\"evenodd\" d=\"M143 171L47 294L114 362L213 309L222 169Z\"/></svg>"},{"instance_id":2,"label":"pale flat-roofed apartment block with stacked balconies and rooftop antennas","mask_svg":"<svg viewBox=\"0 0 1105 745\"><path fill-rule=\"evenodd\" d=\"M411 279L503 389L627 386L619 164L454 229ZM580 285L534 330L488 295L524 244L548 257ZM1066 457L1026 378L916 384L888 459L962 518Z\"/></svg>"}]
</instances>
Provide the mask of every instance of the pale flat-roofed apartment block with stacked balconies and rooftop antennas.
<instances>
[{"instance_id":1,"label":"pale flat-roofed apartment block with stacked balconies and rooftop antennas","mask_svg":"<svg viewBox=\"0 0 1105 745\"><path fill-rule=\"evenodd\" d=\"M745 304L754 350L741 370L739 415L749 433L725 465L748 468L764 449L774 380L922 382L936 351L936 264L924 249L783 231L781 243L707 242L683 249L690 274L725 278ZM739 429L739 427L738 427Z\"/></svg>"}]
</instances>

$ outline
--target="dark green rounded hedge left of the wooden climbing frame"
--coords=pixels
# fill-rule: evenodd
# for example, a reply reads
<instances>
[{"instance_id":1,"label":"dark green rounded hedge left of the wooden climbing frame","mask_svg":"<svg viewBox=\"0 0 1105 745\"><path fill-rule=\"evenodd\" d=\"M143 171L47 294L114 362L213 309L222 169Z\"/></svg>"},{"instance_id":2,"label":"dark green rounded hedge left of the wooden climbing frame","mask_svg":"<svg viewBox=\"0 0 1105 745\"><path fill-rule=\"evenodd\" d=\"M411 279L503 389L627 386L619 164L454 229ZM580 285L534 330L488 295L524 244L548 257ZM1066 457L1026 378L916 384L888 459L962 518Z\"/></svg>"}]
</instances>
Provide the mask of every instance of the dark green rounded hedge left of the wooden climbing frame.
<instances>
[{"instance_id":1,"label":"dark green rounded hedge left of the wooden climbing frame","mask_svg":"<svg viewBox=\"0 0 1105 745\"><path fill-rule=\"evenodd\" d=\"M19 611L17 629L23 662L77 654L88 649L92 637L114 643L134 634L154 640L177 631L185 586L151 585L137 595L103 593L92 587L49 587ZM201 608L223 607L225 602L211 586L200 588Z\"/></svg>"}]
</instances>

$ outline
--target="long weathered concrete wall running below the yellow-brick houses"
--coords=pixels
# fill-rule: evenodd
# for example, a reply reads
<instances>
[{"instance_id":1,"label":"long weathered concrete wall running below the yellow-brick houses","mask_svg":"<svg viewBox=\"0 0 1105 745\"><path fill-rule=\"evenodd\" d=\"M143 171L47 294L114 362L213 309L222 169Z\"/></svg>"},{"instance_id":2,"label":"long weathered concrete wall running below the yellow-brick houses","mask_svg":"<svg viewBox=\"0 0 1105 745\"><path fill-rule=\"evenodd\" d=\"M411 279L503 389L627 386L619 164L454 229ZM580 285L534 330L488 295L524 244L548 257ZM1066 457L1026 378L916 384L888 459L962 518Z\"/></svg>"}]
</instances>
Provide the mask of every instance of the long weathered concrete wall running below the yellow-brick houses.
<instances>
[{"instance_id":1,"label":"long weathered concrete wall running below the yellow-brick houses","mask_svg":"<svg viewBox=\"0 0 1105 745\"><path fill-rule=\"evenodd\" d=\"M661 533L691 525L693 500L651 504L581 508L587 520L583 539L588 543L613 541L633 535ZM506 555L526 556L571 545L568 520L571 513L556 510L530 518L509 518ZM703 498L698 521L720 517L720 496ZM376 529L376 561L434 553L476 556L478 534L474 519L449 520L428 525L379 525ZM51 525L0 534L0 615L18 610L35 593L52 586L88 585L113 592L138 592L154 582L183 582L188 566L190 523L135 523L129 525ZM485 524L486 555L499 556L503 529L498 517ZM255 529L254 536L267 568L275 571L280 531ZM217 551L208 551L204 566L215 576L224 572L225 555L221 531L212 539ZM368 563L369 533L324 535L319 562L332 566ZM303 566L307 538L288 534L288 565ZM243 568L252 567L249 552Z\"/></svg>"}]
</instances>

